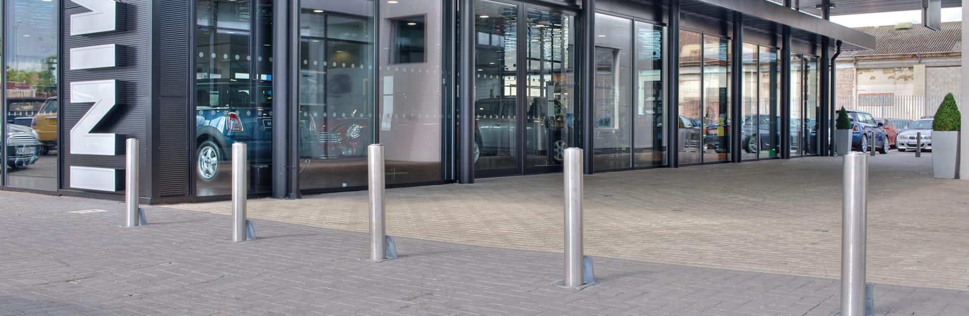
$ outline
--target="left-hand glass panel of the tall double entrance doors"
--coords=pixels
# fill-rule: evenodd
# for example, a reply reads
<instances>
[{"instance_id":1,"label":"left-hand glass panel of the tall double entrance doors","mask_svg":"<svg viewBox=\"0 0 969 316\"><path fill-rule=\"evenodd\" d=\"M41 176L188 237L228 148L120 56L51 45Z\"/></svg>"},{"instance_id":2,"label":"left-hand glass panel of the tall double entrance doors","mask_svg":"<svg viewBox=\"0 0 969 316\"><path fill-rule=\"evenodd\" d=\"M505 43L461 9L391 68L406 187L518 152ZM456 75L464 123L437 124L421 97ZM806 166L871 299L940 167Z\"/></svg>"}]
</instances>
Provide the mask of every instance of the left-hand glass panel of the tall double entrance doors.
<instances>
[{"instance_id":1,"label":"left-hand glass panel of the tall double entrance doors","mask_svg":"<svg viewBox=\"0 0 969 316\"><path fill-rule=\"evenodd\" d=\"M475 1L476 170L517 165L517 7Z\"/></svg>"}]
</instances>

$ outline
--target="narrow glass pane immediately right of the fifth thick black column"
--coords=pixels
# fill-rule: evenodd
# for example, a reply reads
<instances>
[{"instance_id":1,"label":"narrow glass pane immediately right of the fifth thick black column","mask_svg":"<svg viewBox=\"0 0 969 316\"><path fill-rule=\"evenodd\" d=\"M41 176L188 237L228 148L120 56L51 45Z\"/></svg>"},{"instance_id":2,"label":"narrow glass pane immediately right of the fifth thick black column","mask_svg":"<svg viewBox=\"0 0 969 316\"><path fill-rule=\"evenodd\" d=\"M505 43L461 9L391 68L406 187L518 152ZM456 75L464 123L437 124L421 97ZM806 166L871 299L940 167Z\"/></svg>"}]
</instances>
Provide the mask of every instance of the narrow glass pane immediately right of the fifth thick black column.
<instances>
[{"instance_id":1,"label":"narrow glass pane immediately right of the fifth thick black column","mask_svg":"<svg viewBox=\"0 0 969 316\"><path fill-rule=\"evenodd\" d=\"M758 112L758 95L760 86L758 85L758 47L752 44L743 45L741 62L743 63L743 104L740 111L743 113L743 121L740 126L740 148L741 159L756 160L761 151L761 113ZM764 126L767 128L767 126Z\"/></svg>"}]
</instances>

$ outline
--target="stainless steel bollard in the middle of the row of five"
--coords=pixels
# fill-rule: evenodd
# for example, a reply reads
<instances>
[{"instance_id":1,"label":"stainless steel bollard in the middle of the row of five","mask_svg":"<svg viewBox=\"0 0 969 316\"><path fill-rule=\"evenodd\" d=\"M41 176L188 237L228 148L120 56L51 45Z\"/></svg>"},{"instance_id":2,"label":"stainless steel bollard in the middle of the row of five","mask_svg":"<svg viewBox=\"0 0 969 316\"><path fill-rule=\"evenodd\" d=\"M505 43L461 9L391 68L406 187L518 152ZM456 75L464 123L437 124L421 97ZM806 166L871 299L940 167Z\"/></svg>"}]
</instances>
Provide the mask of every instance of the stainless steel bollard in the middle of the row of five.
<instances>
[{"instance_id":1,"label":"stainless steel bollard in the middle of the row of five","mask_svg":"<svg viewBox=\"0 0 969 316\"><path fill-rule=\"evenodd\" d=\"M387 232L384 224L384 145L374 143L367 146L367 183L370 205L370 260L387 259Z\"/></svg>"}]
</instances>

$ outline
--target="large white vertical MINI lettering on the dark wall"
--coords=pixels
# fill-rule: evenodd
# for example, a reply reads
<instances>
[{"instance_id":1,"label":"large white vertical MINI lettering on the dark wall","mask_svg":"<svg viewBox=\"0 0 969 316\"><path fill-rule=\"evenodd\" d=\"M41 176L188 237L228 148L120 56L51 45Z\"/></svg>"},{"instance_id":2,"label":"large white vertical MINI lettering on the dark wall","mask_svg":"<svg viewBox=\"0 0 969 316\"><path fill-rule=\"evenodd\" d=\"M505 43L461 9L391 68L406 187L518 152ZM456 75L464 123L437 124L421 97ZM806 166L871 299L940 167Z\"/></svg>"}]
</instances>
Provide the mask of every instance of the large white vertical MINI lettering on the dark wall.
<instances>
[{"instance_id":1,"label":"large white vertical MINI lettering on the dark wall","mask_svg":"<svg viewBox=\"0 0 969 316\"><path fill-rule=\"evenodd\" d=\"M71 36L117 30L117 3L114 0L71 0L91 12L71 16ZM113 44L74 47L70 50L70 70L104 69L117 66L117 47ZM68 103L92 103L90 110L71 128L71 154L114 156L117 135L92 133L117 101L117 80L71 82ZM122 171L110 168L71 166L71 187L116 192L121 190Z\"/></svg>"}]
</instances>

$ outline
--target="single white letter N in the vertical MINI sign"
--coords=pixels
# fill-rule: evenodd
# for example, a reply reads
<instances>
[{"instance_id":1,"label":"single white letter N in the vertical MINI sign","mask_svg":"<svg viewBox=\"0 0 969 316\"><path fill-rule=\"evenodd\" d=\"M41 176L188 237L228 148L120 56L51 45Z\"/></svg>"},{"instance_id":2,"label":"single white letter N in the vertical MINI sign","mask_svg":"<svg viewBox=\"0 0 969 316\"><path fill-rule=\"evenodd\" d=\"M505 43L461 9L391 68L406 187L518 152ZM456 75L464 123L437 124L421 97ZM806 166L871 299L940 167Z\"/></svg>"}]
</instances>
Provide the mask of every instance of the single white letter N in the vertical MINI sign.
<instances>
[{"instance_id":1,"label":"single white letter N in the vertical MINI sign","mask_svg":"<svg viewBox=\"0 0 969 316\"><path fill-rule=\"evenodd\" d=\"M78 124L71 128L71 154L105 155L117 154L115 134L91 133L114 109L117 100L117 80L71 82L69 103L94 103ZM72 178L72 181L74 179Z\"/></svg>"}]
</instances>

